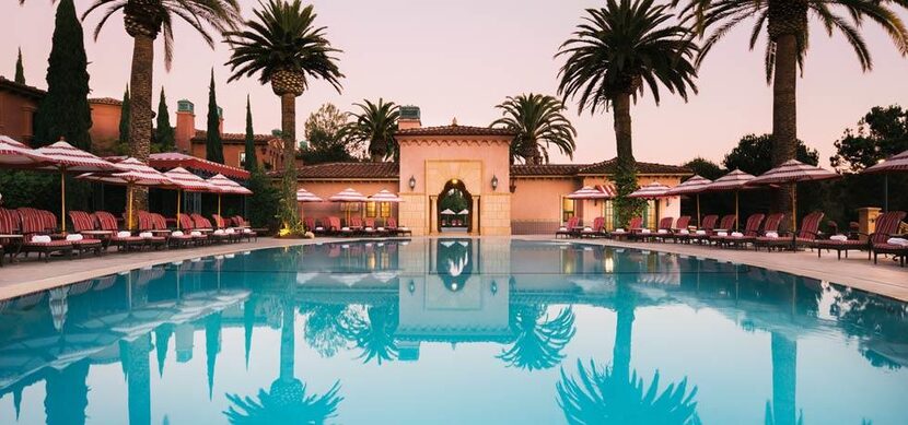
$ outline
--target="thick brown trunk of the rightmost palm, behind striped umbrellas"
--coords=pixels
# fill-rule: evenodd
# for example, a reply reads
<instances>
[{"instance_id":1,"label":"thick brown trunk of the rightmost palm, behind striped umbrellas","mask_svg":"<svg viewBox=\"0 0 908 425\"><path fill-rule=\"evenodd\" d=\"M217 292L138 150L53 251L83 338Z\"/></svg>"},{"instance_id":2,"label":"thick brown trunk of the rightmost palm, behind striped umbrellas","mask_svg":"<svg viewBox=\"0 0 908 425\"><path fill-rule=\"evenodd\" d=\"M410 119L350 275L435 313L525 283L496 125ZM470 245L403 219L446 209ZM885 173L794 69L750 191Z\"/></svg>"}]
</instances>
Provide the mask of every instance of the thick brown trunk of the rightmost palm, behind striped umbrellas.
<instances>
[{"instance_id":1,"label":"thick brown trunk of the rightmost palm, behind striped umbrellas","mask_svg":"<svg viewBox=\"0 0 908 425\"><path fill-rule=\"evenodd\" d=\"M794 160L798 147L798 39L794 34L776 38L772 72L772 166ZM773 212L791 211L791 187L776 190Z\"/></svg>"}]
</instances>

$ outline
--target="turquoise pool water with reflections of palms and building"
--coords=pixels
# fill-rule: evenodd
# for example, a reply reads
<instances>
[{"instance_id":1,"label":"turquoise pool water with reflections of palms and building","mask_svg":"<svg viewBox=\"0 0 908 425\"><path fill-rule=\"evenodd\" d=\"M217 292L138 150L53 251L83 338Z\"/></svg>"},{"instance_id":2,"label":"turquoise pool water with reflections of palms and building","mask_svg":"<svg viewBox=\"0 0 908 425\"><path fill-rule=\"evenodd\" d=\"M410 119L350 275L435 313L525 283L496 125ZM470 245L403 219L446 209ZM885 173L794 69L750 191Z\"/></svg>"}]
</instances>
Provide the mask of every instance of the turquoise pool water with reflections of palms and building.
<instances>
[{"instance_id":1,"label":"turquoise pool water with reflections of palms and building","mask_svg":"<svg viewBox=\"0 0 908 425\"><path fill-rule=\"evenodd\" d=\"M908 307L505 239L326 244L0 302L0 424L906 424Z\"/></svg>"}]
</instances>

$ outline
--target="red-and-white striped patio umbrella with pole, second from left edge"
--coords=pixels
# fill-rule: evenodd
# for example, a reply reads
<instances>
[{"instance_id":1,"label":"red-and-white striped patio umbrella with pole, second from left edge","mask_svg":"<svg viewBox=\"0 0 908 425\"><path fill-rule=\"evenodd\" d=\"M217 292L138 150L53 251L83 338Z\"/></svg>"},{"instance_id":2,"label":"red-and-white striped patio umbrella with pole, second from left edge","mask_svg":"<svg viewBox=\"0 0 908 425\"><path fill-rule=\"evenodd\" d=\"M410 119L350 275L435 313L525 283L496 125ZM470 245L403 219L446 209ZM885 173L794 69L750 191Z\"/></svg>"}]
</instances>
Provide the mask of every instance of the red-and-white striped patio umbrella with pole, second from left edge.
<instances>
[{"instance_id":1,"label":"red-and-white striped patio umbrella with pole, second from left edge","mask_svg":"<svg viewBox=\"0 0 908 425\"><path fill-rule=\"evenodd\" d=\"M60 231L67 231L67 174L119 172L116 165L82 151L62 139L48 146L36 150L50 158L50 163L37 169L60 172Z\"/></svg>"}]
</instances>

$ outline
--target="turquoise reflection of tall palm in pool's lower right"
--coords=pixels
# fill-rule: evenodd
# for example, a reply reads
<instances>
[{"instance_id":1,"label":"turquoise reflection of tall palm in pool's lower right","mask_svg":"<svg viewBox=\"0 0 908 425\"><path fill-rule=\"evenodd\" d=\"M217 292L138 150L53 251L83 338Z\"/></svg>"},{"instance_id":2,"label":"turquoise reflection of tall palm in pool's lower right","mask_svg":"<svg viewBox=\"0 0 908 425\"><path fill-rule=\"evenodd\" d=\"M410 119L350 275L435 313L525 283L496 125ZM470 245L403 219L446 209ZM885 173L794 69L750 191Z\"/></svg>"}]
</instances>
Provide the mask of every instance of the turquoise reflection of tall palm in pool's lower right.
<instances>
[{"instance_id":1,"label":"turquoise reflection of tall palm in pool's lower right","mask_svg":"<svg viewBox=\"0 0 908 425\"><path fill-rule=\"evenodd\" d=\"M616 285L615 346L610 366L589 368L578 359L577 377L561 369L558 404L571 424L699 424L697 387L688 393L687 378L659 392L659 371L649 387L630 369L637 294L627 282Z\"/></svg>"}]
</instances>

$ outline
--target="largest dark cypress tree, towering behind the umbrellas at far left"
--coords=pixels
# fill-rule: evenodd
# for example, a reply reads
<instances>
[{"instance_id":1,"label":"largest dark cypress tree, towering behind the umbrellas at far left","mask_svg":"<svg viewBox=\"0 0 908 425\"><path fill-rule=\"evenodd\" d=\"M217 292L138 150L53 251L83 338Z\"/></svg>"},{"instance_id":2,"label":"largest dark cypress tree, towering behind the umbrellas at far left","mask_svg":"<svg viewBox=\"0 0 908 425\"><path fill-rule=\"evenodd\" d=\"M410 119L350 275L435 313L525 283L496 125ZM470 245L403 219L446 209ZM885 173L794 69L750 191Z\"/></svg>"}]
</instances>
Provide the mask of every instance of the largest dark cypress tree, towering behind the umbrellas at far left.
<instances>
[{"instance_id":1,"label":"largest dark cypress tree, towering behind the umbrellas at far left","mask_svg":"<svg viewBox=\"0 0 908 425\"><path fill-rule=\"evenodd\" d=\"M35 116L35 145L47 145L62 137L81 150L92 149L89 62L83 42L75 5L72 0L61 0L47 66L47 95Z\"/></svg>"}]
</instances>

